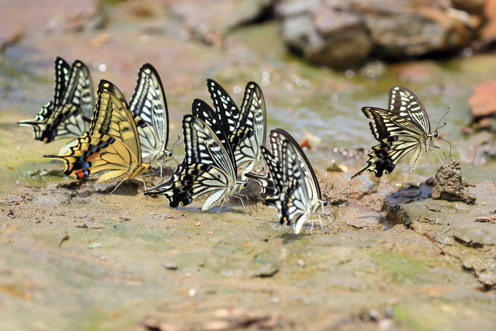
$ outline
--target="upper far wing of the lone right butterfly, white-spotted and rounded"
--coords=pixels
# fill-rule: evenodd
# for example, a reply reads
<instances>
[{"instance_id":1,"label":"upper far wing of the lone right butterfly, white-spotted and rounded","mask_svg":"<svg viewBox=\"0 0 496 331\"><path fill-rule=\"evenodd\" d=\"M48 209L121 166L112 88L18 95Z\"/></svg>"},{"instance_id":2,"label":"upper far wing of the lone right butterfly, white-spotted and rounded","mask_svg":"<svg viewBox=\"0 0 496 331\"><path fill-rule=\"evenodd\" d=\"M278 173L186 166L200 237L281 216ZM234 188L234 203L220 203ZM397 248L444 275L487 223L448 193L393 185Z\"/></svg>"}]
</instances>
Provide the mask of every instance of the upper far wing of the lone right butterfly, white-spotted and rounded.
<instances>
[{"instance_id":1,"label":"upper far wing of the lone right butterfly, white-spotted and rounded","mask_svg":"<svg viewBox=\"0 0 496 331\"><path fill-rule=\"evenodd\" d=\"M431 132L431 123L420 99L408 88L393 86L389 89L389 110L415 123L425 133Z\"/></svg>"}]
</instances>

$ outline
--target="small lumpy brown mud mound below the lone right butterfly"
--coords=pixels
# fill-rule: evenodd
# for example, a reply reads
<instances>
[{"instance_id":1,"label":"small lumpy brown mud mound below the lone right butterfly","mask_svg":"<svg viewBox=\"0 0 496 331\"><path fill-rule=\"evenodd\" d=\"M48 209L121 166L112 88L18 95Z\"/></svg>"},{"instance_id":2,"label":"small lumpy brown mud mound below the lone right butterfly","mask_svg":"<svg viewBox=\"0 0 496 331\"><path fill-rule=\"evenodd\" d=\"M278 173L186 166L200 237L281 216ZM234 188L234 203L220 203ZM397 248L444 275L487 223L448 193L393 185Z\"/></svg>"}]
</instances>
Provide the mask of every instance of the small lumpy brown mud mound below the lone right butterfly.
<instances>
[{"instance_id":1,"label":"small lumpy brown mud mound below the lone right butterfly","mask_svg":"<svg viewBox=\"0 0 496 331\"><path fill-rule=\"evenodd\" d=\"M460 161L452 157L437 170L432 191L434 200L463 201L466 204L475 204L476 197L463 188L461 169Z\"/></svg>"}]
</instances>

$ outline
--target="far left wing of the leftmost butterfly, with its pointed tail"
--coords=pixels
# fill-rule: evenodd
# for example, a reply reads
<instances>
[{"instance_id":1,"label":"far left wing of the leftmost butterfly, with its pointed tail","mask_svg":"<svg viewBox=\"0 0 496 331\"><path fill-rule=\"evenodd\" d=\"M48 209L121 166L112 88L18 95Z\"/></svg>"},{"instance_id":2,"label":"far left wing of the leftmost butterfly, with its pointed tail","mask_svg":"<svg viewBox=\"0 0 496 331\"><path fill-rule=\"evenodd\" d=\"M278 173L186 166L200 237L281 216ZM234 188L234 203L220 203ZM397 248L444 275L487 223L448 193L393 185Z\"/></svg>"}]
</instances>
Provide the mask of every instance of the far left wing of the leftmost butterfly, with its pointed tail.
<instances>
[{"instance_id":1,"label":"far left wing of the leftmost butterfly, with its pointed tail","mask_svg":"<svg viewBox=\"0 0 496 331\"><path fill-rule=\"evenodd\" d=\"M41 108L41 111L36 115L36 118L34 120L18 122L20 126L32 127L35 133L36 140L45 141L50 136L49 134L47 134L47 129L49 127L49 125L47 124L47 120L57 109L59 109L61 105L62 94L69 81L69 70L70 66L67 64L67 62L65 62L65 60L59 57L55 58L55 84L53 100Z\"/></svg>"}]
</instances>

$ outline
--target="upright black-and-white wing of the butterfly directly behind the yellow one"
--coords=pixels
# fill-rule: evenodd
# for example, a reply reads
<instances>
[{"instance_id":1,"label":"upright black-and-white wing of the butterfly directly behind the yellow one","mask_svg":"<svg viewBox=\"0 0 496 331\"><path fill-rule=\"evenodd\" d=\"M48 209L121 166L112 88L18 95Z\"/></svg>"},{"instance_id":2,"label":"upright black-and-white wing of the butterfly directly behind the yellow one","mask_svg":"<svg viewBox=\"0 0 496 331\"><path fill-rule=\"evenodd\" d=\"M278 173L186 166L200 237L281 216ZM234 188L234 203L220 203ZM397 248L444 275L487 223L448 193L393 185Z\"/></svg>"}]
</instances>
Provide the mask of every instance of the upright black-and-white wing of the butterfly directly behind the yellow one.
<instances>
[{"instance_id":1,"label":"upright black-and-white wing of the butterfly directly behind the yellow one","mask_svg":"<svg viewBox=\"0 0 496 331\"><path fill-rule=\"evenodd\" d=\"M141 155L150 160L172 156L167 149L169 112L164 88L157 70L148 63L139 69L129 109L136 118Z\"/></svg>"}]
</instances>

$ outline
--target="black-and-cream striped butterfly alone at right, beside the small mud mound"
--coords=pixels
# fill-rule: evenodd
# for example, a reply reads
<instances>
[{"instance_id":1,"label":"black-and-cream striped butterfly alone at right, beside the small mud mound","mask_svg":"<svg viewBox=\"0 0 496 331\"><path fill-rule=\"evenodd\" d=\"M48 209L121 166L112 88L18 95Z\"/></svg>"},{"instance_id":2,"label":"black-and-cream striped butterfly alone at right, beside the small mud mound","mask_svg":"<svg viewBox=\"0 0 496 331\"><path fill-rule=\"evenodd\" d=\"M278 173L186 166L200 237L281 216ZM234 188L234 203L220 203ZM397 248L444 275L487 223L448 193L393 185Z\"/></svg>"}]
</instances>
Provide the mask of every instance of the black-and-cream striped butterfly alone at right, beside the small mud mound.
<instances>
[{"instance_id":1,"label":"black-and-cream striped butterfly alone at right, beside the small mud mound","mask_svg":"<svg viewBox=\"0 0 496 331\"><path fill-rule=\"evenodd\" d=\"M437 129L431 132L426 109L406 87L393 86L389 89L389 110L364 107L362 112L372 120L369 125L378 142L368 154L367 166L353 177L366 170L375 173L376 177L389 174L399 159L411 151L409 172L412 173L419 164L423 150L427 153L431 147L439 148L434 146L434 138L438 137L439 132Z\"/></svg>"}]
</instances>

